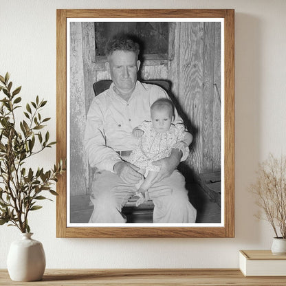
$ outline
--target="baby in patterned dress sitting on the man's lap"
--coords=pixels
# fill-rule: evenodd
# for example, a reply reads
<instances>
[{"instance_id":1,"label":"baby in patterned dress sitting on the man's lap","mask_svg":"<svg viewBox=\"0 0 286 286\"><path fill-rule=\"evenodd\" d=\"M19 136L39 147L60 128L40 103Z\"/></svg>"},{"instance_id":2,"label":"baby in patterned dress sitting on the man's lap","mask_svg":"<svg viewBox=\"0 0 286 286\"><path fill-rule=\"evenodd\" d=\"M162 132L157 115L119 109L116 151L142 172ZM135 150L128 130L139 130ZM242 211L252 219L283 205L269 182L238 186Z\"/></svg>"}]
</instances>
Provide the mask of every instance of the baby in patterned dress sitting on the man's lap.
<instances>
[{"instance_id":1,"label":"baby in patterned dress sitting on the man's lap","mask_svg":"<svg viewBox=\"0 0 286 286\"><path fill-rule=\"evenodd\" d=\"M192 135L185 131L184 124L172 123L174 107L173 102L167 98L159 98L151 105L151 120L144 121L132 131L133 136L139 138L139 144L129 156L128 162L139 167L139 172L145 177L136 186L136 195L140 197L136 206L149 199L148 189L160 169L152 163L170 156L172 148L188 154L188 146L192 142Z\"/></svg>"}]
</instances>

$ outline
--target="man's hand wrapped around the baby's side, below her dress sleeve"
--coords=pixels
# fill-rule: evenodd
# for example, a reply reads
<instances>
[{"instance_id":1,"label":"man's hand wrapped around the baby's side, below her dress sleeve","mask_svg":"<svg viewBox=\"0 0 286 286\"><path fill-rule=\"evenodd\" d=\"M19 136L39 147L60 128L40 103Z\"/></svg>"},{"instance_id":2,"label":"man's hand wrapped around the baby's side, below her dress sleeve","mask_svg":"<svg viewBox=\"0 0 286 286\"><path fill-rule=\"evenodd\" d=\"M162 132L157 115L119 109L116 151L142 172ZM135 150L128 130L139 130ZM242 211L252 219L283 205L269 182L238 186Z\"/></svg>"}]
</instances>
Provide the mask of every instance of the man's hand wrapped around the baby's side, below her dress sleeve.
<instances>
[{"instance_id":1,"label":"man's hand wrapped around the baby's side, below her dress sleeve","mask_svg":"<svg viewBox=\"0 0 286 286\"><path fill-rule=\"evenodd\" d=\"M154 161L153 165L160 166L161 168L159 170L158 175L155 177L155 179L153 179L152 184L155 184L166 177L170 177L170 175L172 175L172 173L174 172L175 168L177 168L177 166L179 165L181 156L182 153L181 151L179 151L179 149L172 149L170 157Z\"/></svg>"}]
</instances>

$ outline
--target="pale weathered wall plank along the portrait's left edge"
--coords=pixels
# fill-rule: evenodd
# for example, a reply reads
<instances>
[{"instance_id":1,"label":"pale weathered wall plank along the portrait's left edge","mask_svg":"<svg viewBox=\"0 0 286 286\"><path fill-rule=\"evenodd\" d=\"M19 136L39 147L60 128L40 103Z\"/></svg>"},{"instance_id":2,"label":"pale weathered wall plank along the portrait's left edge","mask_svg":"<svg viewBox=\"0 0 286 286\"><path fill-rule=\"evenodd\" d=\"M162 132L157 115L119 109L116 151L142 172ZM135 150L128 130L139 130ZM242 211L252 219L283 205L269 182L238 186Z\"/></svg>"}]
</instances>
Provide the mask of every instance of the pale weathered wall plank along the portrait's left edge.
<instances>
[{"instance_id":1,"label":"pale weathered wall plank along the portrait's left edge","mask_svg":"<svg viewBox=\"0 0 286 286\"><path fill-rule=\"evenodd\" d=\"M83 34L81 23L70 23L70 194L85 195L86 160L83 148L85 132L85 83L83 74Z\"/></svg>"}]
</instances>

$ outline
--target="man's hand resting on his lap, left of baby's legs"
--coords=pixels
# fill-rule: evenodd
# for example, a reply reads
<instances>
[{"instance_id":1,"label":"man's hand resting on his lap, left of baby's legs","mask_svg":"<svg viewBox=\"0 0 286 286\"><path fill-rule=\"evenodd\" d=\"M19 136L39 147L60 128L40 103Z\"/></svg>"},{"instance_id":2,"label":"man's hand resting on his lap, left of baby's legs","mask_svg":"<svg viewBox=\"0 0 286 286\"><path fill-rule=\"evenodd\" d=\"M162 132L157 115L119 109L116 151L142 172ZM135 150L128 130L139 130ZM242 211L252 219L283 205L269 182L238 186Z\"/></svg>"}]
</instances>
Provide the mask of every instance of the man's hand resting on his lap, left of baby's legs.
<instances>
[{"instance_id":1,"label":"man's hand resting on his lap, left of baby's legs","mask_svg":"<svg viewBox=\"0 0 286 286\"><path fill-rule=\"evenodd\" d=\"M142 179L142 175L137 172L140 168L131 163L117 162L113 170L126 184L135 185Z\"/></svg>"}]
</instances>

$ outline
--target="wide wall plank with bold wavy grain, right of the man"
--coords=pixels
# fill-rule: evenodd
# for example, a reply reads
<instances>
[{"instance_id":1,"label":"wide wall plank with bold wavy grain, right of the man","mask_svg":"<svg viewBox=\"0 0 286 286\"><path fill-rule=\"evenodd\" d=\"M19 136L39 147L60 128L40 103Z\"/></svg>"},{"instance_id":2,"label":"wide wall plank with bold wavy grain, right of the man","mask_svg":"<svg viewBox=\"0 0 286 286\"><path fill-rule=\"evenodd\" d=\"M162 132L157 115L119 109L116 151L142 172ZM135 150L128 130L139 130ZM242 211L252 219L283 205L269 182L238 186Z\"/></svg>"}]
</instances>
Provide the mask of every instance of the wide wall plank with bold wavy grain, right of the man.
<instances>
[{"instance_id":1,"label":"wide wall plank with bold wavy grain, right of the man","mask_svg":"<svg viewBox=\"0 0 286 286\"><path fill-rule=\"evenodd\" d=\"M202 168L202 87L203 87L203 23L181 23L179 104L184 121L194 140L186 164L190 171L199 174Z\"/></svg>"}]
</instances>

